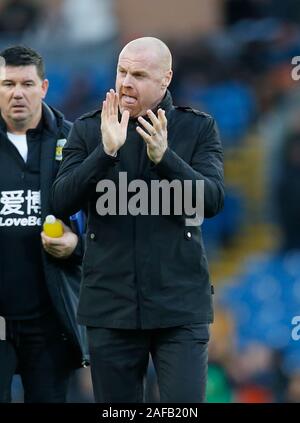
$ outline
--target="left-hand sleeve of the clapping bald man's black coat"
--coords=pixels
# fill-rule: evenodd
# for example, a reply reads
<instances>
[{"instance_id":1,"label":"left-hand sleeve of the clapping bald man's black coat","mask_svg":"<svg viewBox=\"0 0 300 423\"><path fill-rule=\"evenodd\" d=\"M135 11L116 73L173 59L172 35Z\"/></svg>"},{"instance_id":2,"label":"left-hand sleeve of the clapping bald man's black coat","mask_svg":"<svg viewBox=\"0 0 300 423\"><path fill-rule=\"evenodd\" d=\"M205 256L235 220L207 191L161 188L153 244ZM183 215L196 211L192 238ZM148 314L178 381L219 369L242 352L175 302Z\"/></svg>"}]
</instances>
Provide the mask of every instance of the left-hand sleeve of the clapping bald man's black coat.
<instances>
[{"instance_id":1,"label":"left-hand sleeve of the clapping bald man's black coat","mask_svg":"<svg viewBox=\"0 0 300 423\"><path fill-rule=\"evenodd\" d=\"M89 154L87 144L94 136L86 120L78 119L73 125L52 188L52 205L57 216L70 216L85 207L98 181L105 178L118 160L104 152L100 138Z\"/></svg>"}]
</instances>

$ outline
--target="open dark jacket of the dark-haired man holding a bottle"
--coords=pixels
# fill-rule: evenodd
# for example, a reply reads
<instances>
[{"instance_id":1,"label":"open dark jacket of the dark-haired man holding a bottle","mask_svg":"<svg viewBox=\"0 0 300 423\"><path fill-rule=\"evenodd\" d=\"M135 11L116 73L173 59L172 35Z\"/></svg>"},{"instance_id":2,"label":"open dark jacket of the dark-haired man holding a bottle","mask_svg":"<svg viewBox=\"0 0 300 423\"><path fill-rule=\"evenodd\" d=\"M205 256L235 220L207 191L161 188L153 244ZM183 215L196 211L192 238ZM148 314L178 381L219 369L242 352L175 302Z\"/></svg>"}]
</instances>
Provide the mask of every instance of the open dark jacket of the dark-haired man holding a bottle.
<instances>
[{"instance_id":1,"label":"open dark jacket of the dark-haired man holding a bottle","mask_svg":"<svg viewBox=\"0 0 300 423\"><path fill-rule=\"evenodd\" d=\"M60 165L60 162L56 160L57 141L68 136L71 123L66 121L59 111L43 104L43 125L40 160L42 222L48 214L53 214L51 185ZM6 134L1 131L0 136L6 138ZM5 141L8 142L8 140ZM62 218L67 225L70 225L67 215ZM81 250L80 242L72 256L65 260L55 259L42 250L48 292L55 312L63 325L65 335L71 343L73 353L70 355L70 361L74 363L74 367L80 367L88 361L85 328L76 322L81 278Z\"/></svg>"}]
</instances>

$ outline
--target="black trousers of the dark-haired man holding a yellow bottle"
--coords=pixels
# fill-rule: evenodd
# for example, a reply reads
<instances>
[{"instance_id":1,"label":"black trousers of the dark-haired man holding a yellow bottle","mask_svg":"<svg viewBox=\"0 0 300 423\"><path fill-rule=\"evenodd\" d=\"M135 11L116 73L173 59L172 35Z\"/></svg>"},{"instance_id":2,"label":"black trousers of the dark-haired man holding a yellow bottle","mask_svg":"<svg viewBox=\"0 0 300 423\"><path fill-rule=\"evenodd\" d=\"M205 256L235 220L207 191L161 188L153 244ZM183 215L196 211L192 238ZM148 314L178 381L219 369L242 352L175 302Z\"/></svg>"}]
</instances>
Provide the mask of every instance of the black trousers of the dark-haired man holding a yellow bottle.
<instances>
[{"instance_id":1,"label":"black trousers of the dark-haired man holding a yellow bottle","mask_svg":"<svg viewBox=\"0 0 300 423\"><path fill-rule=\"evenodd\" d=\"M22 379L24 402L65 402L72 369L68 341L56 317L48 313L6 321L6 339L2 341L8 344L2 347L6 360L0 364L0 402L10 402L16 371Z\"/></svg>"}]
</instances>

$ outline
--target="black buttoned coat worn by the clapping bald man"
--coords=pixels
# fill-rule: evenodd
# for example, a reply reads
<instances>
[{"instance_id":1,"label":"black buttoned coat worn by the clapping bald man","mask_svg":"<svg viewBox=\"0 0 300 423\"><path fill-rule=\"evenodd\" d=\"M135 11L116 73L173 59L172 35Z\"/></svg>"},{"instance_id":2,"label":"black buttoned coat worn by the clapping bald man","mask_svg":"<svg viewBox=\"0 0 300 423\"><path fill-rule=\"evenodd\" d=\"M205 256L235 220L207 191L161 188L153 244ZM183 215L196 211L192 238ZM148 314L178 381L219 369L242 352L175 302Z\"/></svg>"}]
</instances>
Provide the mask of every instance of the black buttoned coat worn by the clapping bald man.
<instances>
[{"instance_id":1,"label":"black buttoned coat worn by the clapping bald man","mask_svg":"<svg viewBox=\"0 0 300 423\"><path fill-rule=\"evenodd\" d=\"M184 216L99 216L96 184L119 172L128 182L142 179L204 180L205 215L224 200L223 154L214 120L172 105L160 107L168 119L168 149L158 165L130 119L127 140L116 158L105 154L100 111L79 118L63 152L53 187L57 214L88 208L87 245L78 317L82 324L108 328L160 328L213 320L211 285L199 226ZM67 193L67 195L66 195Z\"/></svg>"}]
</instances>

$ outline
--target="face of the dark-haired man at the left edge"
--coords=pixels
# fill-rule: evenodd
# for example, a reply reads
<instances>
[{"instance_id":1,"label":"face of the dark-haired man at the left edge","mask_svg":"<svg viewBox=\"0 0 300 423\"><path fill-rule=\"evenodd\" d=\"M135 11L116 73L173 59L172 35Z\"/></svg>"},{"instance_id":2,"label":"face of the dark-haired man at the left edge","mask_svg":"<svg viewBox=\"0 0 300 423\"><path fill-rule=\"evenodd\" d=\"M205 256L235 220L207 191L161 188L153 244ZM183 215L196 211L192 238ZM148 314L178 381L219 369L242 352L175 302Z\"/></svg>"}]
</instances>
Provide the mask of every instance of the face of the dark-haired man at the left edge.
<instances>
[{"instance_id":1,"label":"face of the dark-haired man at the left edge","mask_svg":"<svg viewBox=\"0 0 300 423\"><path fill-rule=\"evenodd\" d=\"M37 74L34 65L5 66L0 75L0 110L10 125L30 126L41 113L48 81Z\"/></svg>"}]
</instances>

